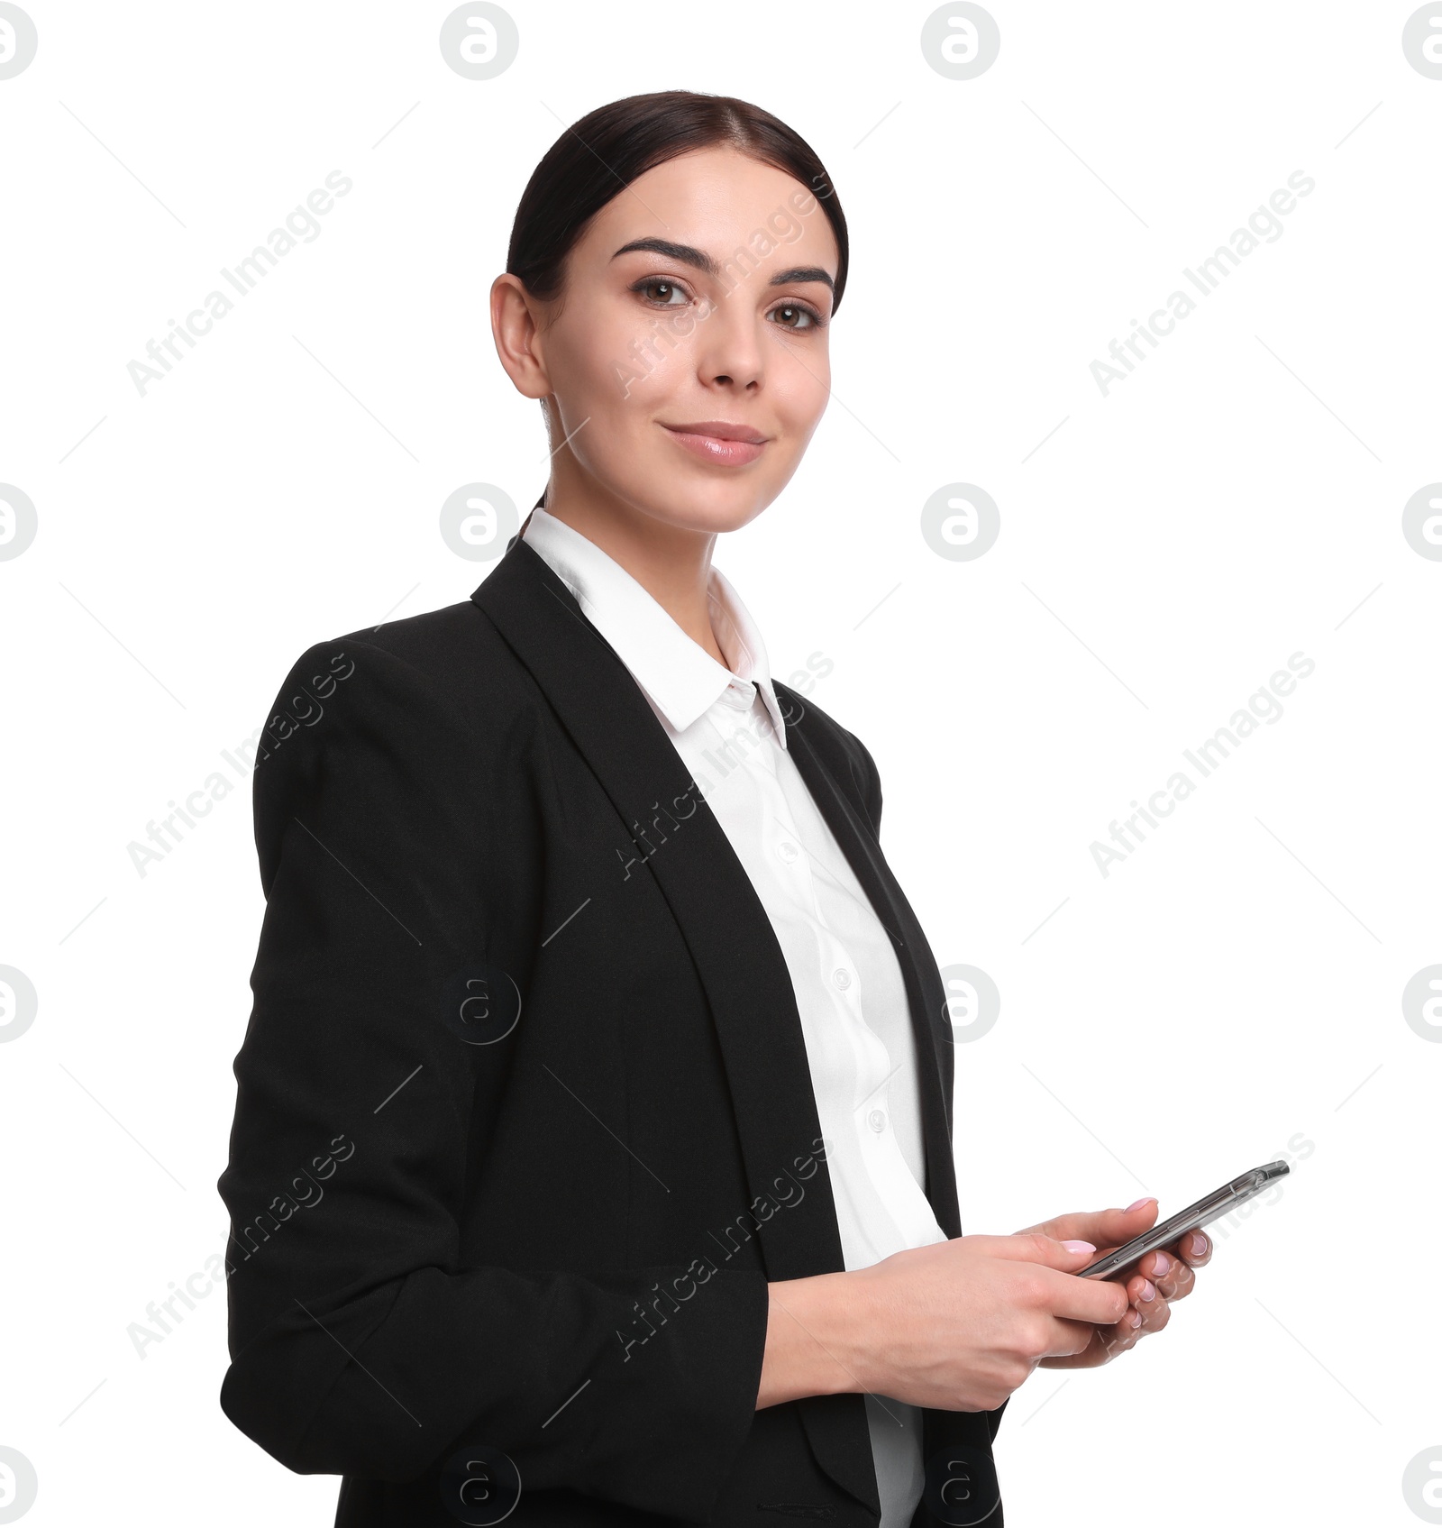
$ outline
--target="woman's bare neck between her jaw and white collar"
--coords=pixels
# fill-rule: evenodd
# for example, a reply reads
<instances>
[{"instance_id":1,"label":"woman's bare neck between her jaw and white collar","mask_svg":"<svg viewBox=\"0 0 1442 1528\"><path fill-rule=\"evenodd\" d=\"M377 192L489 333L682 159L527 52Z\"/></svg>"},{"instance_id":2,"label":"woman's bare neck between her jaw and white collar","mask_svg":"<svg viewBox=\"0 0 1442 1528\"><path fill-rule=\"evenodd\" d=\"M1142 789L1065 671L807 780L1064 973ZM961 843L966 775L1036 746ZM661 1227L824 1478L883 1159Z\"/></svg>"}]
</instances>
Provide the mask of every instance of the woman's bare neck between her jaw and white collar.
<instances>
[{"instance_id":1,"label":"woman's bare neck between her jaw and white collar","mask_svg":"<svg viewBox=\"0 0 1442 1528\"><path fill-rule=\"evenodd\" d=\"M724 665L707 604L715 533L671 526L617 498L558 483L558 475L545 490L545 512L619 562L692 642Z\"/></svg>"}]
</instances>

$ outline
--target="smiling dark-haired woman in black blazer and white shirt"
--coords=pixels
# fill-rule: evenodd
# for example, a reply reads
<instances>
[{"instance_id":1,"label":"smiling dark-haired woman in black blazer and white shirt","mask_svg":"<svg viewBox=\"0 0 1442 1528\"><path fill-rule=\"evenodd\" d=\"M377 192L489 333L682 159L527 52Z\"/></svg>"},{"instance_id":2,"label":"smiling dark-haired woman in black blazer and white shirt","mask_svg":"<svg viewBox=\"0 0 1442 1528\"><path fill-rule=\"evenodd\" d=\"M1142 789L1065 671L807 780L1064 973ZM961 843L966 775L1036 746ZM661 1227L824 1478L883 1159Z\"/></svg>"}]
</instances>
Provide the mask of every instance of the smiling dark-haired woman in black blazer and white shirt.
<instances>
[{"instance_id":1,"label":"smiling dark-haired woman in black blazer and white shirt","mask_svg":"<svg viewBox=\"0 0 1442 1528\"><path fill-rule=\"evenodd\" d=\"M567 130L492 289L544 507L281 691L221 1404L338 1523L999 1525L1011 1390L1210 1254L1075 1277L1152 1199L961 1235L875 766L710 565L820 420L846 252L753 105Z\"/></svg>"}]
</instances>

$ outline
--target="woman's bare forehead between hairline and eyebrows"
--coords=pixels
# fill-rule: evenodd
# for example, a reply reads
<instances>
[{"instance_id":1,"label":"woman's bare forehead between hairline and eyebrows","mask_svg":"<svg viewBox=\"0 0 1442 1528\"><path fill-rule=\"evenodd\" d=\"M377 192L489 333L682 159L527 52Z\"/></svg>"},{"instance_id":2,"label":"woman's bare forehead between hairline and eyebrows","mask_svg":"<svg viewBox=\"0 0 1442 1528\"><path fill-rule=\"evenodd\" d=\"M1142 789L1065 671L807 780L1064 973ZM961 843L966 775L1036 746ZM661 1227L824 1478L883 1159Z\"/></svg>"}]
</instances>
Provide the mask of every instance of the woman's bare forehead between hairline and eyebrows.
<instances>
[{"instance_id":1,"label":"woman's bare forehead between hairline and eyebrows","mask_svg":"<svg viewBox=\"0 0 1442 1528\"><path fill-rule=\"evenodd\" d=\"M776 244L762 264L796 264L805 252L836 275L836 235L811 188L732 148L694 150L648 170L596 214L580 244L597 263L646 237L695 244L724 260L758 231Z\"/></svg>"}]
</instances>

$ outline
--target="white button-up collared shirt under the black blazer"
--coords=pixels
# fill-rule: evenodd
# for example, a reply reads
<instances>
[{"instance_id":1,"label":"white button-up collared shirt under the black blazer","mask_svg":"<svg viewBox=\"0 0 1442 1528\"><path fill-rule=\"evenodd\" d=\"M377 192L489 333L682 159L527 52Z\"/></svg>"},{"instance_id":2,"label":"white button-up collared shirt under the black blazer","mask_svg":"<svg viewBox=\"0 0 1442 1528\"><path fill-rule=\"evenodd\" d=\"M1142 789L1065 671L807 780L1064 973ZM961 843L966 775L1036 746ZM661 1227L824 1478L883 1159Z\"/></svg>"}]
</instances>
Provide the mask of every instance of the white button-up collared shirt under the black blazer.
<instances>
[{"instance_id":1,"label":"white button-up collared shirt under the black blazer","mask_svg":"<svg viewBox=\"0 0 1442 1528\"><path fill-rule=\"evenodd\" d=\"M765 908L800 1013L846 1268L946 1241L921 1189L917 1054L897 953L787 752L765 646L726 578L709 608L729 666L594 542L544 509L525 542L616 649L690 770ZM866 1397L880 1528L921 1499L921 1415Z\"/></svg>"}]
</instances>

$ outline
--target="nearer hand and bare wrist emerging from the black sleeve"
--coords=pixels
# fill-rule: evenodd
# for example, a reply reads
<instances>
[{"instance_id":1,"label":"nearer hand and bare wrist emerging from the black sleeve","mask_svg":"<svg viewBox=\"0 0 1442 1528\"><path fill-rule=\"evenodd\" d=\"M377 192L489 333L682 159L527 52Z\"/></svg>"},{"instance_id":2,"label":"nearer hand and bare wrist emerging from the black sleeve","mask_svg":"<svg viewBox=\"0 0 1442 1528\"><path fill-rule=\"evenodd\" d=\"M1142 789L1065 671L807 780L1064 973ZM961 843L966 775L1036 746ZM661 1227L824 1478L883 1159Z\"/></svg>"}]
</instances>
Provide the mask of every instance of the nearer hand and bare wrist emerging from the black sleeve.
<instances>
[{"instance_id":1,"label":"nearer hand and bare wrist emerging from the black sleeve","mask_svg":"<svg viewBox=\"0 0 1442 1528\"><path fill-rule=\"evenodd\" d=\"M773 1284L756 1406L863 1390L994 1410L1043 1358L1082 1352L1126 1314L1123 1285L1075 1277L1094 1256L1040 1233L956 1236Z\"/></svg>"}]
</instances>

